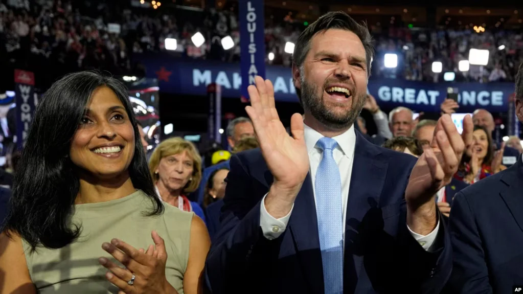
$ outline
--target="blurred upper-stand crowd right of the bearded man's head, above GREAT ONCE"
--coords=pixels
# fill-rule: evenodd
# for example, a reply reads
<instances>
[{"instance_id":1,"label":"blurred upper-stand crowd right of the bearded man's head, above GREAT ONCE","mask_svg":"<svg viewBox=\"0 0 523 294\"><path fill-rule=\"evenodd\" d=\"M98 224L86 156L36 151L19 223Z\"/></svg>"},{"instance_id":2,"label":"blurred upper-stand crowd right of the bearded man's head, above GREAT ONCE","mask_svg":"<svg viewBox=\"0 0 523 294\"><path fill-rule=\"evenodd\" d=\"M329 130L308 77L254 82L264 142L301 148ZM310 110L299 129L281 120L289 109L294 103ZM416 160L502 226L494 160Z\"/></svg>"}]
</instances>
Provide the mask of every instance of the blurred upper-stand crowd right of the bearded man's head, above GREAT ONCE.
<instances>
[{"instance_id":1,"label":"blurred upper-stand crowd right of the bearded man's head, above GREAT ONCE","mask_svg":"<svg viewBox=\"0 0 523 294\"><path fill-rule=\"evenodd\" d=\"M460 82L514 81L523 60L521 31L497 30L476 33L469 30L411 30L390 28L374 33L377 60L373 74L380 77L405 78L411 81L441 82L442 73L455 72ZM459 61L468 60L470 49L490 51L488 64L470 65L470 70L459 71ZM399 56L398 67L384 67L385 53ZM432 72L432 63L442 63L442 73ZM376 68L377 67L377 68Z\"/></svg>"}]
</instances>

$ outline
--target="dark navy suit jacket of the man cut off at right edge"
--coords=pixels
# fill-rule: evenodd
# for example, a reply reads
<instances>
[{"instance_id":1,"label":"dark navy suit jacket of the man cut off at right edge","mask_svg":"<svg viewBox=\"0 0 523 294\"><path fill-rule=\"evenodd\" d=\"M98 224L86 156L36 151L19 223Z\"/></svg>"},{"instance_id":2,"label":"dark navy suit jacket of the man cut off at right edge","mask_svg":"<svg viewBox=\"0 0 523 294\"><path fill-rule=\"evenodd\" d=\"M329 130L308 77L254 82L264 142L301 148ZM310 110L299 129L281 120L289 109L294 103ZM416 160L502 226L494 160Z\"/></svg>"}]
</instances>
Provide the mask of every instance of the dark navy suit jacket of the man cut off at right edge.
<instances>
[{"instance_id":1,"label":"dark navy suit jacket of the man cut off at right edge","mask_svg":"<svg viewBox=\"0 0 523 294\"><path fill-rule=\"evenodd\" d=\"M452 203L452 293L512 293L523 285L523 163L460 191Z\"/></svg>"}]
</instances>

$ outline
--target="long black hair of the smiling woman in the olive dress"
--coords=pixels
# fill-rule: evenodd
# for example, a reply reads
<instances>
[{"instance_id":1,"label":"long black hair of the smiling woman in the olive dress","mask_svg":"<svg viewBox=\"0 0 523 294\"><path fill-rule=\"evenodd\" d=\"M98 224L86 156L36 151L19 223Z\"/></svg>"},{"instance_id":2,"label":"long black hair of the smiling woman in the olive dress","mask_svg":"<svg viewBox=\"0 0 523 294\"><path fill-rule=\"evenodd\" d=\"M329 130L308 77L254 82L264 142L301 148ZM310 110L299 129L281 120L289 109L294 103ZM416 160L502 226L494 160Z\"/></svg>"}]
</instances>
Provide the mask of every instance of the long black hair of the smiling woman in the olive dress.
<instances>
[{"instance_id":1,"label":"long black hair of the smiling woman in the olive dress","mask_svg":"<svg viewBox=\"0 0 523 294\"><path fill-rule=\"evenodd\" d=\"M115 78L96 72L68 74L51 86L35 110L15 172L10 211L2 228L7 235L18 233L33 251L37 246L64 247L81 231L71 223L79 178L69 154L89 100L95 89L102 86L116 93L134 129L134 157L129 166L133 186L154 202L149 215L163 213L126 87Z\"/></svg>"}]
</instances>

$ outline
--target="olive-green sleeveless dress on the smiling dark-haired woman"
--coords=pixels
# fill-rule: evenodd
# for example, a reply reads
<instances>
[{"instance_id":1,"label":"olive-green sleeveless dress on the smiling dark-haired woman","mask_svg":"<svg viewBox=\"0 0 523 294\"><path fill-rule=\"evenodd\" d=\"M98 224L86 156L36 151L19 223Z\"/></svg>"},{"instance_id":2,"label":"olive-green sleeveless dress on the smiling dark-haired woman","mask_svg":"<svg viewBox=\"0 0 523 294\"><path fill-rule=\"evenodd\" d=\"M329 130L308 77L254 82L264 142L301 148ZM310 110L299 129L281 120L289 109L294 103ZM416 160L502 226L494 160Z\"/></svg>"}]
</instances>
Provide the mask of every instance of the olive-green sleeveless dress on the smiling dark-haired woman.
<instances>
[{"instance_id":1,"label":"olive-green sleeveless dress on the smiling dark-haired woman","mask_svg":"<svg viewBox=\"0 0 523 294\"><path fill-rule=\"evenodd\" d=\"M80 224L82 231L74 243L60 249L38 247L30 253L29 245L22 240L31 280L39 293L118 293L105 278L108 270L98 263L103 256L113 262L116 259L101 244L118 238L146 250L154 245L151 232L156 230L165 240L167 280L183 294L194 213L166 205L161 216L145 216L152 208L151 198L141 190L116 200L76 205L73 223Z\"/></svg>"}]
</instances>

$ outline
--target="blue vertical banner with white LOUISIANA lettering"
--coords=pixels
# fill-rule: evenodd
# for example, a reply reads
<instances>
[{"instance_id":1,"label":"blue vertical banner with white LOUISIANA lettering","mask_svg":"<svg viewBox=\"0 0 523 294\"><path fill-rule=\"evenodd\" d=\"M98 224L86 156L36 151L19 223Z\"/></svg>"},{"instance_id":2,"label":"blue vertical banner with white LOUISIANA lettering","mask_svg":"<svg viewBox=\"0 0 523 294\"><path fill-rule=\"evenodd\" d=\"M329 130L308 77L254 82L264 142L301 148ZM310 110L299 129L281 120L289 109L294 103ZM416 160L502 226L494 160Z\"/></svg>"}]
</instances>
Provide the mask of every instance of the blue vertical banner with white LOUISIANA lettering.
<instances>
[{"instance_id":1,"label":"blue vertical banner with white LOUISIANA lettering","mask_svg":"<svg viewBox=\"0 0 523 294\"><path fill-rule=\"evenodd\" d=\"M265 15L263 0L239 0L242 100L249 97L247 87L254 77L265 78Z\"/></svg>"}]
</instances>

